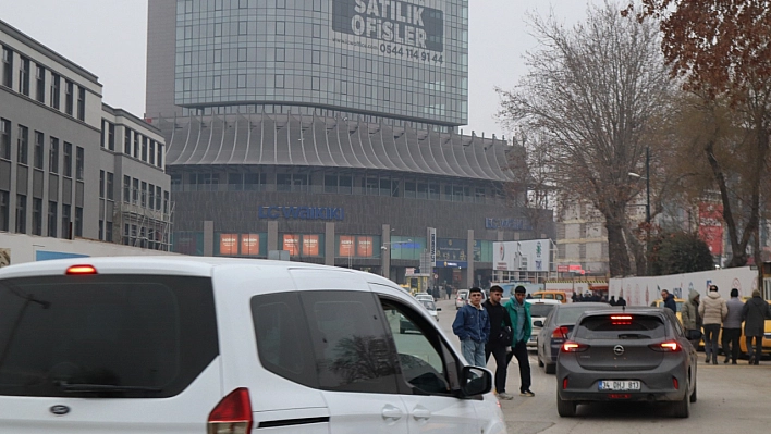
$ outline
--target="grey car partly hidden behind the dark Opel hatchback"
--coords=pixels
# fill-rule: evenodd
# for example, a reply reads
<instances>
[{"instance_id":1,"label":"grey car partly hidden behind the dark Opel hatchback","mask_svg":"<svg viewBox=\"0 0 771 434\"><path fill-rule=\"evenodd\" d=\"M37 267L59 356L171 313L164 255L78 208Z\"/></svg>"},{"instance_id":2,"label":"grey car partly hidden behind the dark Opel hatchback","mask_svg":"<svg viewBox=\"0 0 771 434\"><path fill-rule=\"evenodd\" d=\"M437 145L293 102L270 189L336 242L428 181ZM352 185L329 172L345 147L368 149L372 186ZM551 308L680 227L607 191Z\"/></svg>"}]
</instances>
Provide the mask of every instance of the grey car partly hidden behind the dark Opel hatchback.
<instances>
[{"instance_id":1,"label":"grey car partly hidden behind the dark Opel hatchback","mask_svg":"<svg viewBox=\"0 0 771 434\"><path fill-rule=\"evenodd\" d=\"M556 356L560 347L567 339L567 335L573 331L578 317L586 311L598 309L610 309L607 302L572 302L567 305L554 305L551 313L541 324L536 342L538 348L538 365L543 367L546 373L553 374L556 367ZM537 322L535 324L538 324Z\"/></svg>"}]
</instances>

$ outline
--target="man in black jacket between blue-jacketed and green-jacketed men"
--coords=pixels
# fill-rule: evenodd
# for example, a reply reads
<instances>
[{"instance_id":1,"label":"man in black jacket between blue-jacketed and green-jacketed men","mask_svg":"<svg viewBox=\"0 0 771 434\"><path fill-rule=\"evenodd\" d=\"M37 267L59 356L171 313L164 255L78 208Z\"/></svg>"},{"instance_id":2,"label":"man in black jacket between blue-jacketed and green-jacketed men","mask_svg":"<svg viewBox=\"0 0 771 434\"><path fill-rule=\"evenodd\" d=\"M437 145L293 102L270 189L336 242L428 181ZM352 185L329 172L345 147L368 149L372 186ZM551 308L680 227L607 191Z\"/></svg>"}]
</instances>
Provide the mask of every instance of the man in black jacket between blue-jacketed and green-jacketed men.
<instances>
[{"instance_id":1,"label":"man in black jacket between blue-jacketed and green-jacketed men","mask_svg":"<svg viewBox=\"0 0 771 434\"><path fill-rule=\"evenodd\" d=\"M490 297L482 303L490 319L490 335L485 345L485 360L490 360L490 355L495 359L495 394L498 399L513 399L506 393L506 369L511 357L509 348L512 345L512 320L509 312L501 305L503 288L493 285L490 287Z\"/></svg>"}]
</instances>

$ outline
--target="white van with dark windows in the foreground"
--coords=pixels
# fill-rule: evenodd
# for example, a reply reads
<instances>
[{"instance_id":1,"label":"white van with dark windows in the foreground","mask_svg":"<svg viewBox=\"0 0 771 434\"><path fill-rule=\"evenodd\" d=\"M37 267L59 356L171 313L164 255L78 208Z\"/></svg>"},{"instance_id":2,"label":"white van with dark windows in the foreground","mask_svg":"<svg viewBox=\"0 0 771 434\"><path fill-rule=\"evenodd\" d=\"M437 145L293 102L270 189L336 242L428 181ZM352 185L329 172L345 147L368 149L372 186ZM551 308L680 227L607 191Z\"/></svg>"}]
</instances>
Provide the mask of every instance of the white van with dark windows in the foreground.
<instances>
[{"instance_id":1,"label":"white van with dark windows in the foreground","mask_svg":"<svg viewBox=\"0 0 771 434\"><path fill-rule=\"evenodd\" d=\"M3 434L505 433L490 372L465 364L370 273L188 257L0 269Z\"/></svg>"}]
</instances>

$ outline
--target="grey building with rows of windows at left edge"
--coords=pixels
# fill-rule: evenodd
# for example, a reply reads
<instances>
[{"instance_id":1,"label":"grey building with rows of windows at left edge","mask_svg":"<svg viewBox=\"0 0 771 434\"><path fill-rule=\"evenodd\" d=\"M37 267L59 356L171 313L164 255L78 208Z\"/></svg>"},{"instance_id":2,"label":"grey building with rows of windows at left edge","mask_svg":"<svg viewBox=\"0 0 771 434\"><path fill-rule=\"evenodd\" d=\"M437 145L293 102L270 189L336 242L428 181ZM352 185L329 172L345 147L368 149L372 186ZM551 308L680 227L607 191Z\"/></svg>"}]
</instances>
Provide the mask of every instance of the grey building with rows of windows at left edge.
<instances>
[{"instance_id":1,"label":"grey building with rows of windows at left edge","mask_svg":"<svg viewBox=\"0 0 771 434\"><path fill-rule=\"evenodd\" d=\"M170 181L162 163L109 140L124 119L161 153L162 135L102 104L94 74L4 22L0 45L0 232L122 241L121 177L152 179L167 198Z\"/></svg>"}]
</instances>

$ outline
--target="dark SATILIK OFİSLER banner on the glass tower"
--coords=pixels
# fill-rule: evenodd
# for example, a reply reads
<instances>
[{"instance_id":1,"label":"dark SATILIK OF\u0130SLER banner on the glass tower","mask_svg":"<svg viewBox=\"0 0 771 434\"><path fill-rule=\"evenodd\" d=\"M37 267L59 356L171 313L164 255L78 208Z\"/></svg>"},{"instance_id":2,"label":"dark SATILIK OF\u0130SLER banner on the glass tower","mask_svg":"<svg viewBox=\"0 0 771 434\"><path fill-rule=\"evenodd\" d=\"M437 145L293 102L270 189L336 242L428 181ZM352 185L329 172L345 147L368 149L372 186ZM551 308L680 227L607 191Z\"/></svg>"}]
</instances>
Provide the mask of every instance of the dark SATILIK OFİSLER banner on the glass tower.
<instances>
[{"instance_id":1,"label":"dark SATILIK OF\u0130SLER banner on the glass tower","mask_svg":"<svg viewBox=\"0 0 771 434\"><path fill-rule=\"evenodd\" d=\"M348 50L441 65L443 7L430 0L332 0L330 39Z\"/></svg>"}]
</instances>

